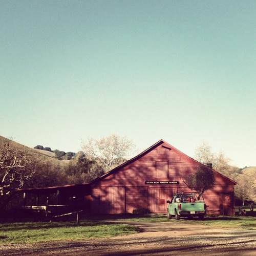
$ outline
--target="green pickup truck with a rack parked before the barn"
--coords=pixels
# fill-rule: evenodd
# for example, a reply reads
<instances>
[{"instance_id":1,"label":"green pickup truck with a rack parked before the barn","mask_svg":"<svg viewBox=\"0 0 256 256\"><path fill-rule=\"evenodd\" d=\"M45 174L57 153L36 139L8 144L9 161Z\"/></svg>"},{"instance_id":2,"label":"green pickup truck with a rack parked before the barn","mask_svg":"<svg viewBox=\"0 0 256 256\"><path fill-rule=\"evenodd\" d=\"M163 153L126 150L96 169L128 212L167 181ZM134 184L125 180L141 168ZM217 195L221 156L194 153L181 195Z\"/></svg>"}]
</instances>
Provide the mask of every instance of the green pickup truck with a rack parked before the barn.
<instances>
[{"instance_id":1,"label":"green pickup truck with a rack parked before the barn","mask_svg":"<svg viewBox=\"0 0 256 256\"><path fill-rule=\"evenodd\" d=\"M180 217L199 217L203 219L206 213L206 205L203 200L197 200L194 193L178 193L172 200L168 200L167 218L176 220Z\"/></svg>"}]
</instances>

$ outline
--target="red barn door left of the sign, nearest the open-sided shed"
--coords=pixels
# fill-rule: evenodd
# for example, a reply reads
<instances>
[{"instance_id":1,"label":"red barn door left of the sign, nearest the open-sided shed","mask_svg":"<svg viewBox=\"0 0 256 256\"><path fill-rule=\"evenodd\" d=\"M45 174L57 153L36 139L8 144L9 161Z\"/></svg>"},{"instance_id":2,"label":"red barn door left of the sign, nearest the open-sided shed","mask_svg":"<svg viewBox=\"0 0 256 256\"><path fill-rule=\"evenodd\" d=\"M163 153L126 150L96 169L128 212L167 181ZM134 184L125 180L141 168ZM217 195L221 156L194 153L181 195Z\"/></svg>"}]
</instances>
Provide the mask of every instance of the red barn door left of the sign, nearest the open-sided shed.
<instances>
[{"instance_id":1,"label":"red barn door left of the sign, nearest the open-sided shed","mask_svg":"<svg viewBox=\"0 0 256 256\"><path fill-rule=\"evenodd\" d=\"M124 212L124 187L100 187L100 213Z\"/></svg>"}]
</instances>

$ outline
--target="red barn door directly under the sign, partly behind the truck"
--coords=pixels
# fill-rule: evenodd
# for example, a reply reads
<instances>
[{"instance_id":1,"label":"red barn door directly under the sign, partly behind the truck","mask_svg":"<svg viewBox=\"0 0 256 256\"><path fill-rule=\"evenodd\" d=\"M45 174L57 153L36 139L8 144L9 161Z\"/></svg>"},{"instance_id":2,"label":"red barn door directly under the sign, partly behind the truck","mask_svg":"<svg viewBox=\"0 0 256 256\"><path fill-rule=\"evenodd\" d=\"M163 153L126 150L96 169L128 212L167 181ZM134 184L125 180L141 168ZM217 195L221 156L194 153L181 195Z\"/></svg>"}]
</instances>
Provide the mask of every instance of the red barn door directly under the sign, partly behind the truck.
<instances>
[{"instance_id":1,"label":"red barn door directly under the sign, partly behind the truck","mask_svg":"<svg viewBox=\"0 0 256 256\"><path fill-rule=\"evenodd\" d=\"M151 212L166 212L167 200L172 199L174 194L177 193L177 187L161 188L149 187L148 188L148 204Z\"/></svg>"}]
</instances>

